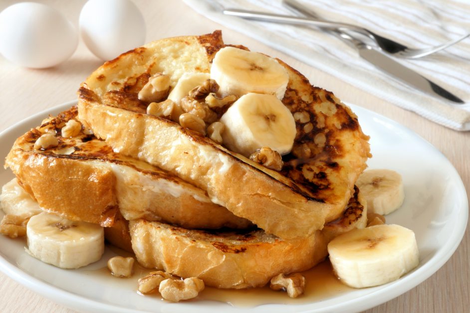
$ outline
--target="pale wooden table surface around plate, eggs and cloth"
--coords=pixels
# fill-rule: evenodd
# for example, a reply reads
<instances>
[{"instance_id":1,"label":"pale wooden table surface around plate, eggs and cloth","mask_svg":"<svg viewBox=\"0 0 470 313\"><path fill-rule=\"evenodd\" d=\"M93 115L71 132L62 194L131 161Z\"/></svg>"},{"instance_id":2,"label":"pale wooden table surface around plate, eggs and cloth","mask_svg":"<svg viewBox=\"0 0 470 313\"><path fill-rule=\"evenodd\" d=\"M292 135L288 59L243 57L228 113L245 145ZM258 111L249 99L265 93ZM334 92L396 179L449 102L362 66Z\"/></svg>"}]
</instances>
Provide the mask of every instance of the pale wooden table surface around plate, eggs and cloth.
<instances>
[{"instance_id":1,"label":"pale wooden table surface around plate, eggs and cloth","mask_svg":"<svg viewBox=\"0 0 470 313\"><path fill-rule=\"evenodd\" d=\"M0 10L14 3L2 0ZM85 0L37 1L51 4L73 23ZM227 43L243 44L251 50L276 56L299 70L316 86L333 91L345 102L354 103L389 117L433 144L457 168L470 190L470 133L456 132L400 109L343 81L271 49L248 36L217 24L190 9L181 1L134 0L147 24L147 41L177 35L196 35L222 29ZM80 84L102 64L80 41L65 63L49 69L26 69L0 56L0 131L30 115L74 100ZM470 91L469 91L470 92ZM367 312L469 312L470 308L470 228L456 253L428 280L411 291ZM19 285L0 273L0 312L75 312Z\"/></svg>"}]
</instances>

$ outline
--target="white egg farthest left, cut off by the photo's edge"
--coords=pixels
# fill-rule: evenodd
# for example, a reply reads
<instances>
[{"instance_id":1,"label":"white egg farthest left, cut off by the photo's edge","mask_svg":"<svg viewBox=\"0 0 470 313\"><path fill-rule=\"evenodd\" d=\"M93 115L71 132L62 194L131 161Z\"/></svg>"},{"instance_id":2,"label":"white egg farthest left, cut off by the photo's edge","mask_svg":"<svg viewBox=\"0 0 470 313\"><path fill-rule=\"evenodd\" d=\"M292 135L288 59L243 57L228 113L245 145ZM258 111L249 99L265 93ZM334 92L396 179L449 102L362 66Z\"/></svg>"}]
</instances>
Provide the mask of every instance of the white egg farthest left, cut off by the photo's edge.
<instances>
[{"instance_id":1,"label":"white egg farthest left, cut off by the photo's edge","mask_svg":"<svg viewBox=\"0 0 470 313\"><path fill-rule=\"evenodd\" d=\"M67 60L77 44L75 27L48 5L21 2L0 13L0 53L13 63L51 67Z\"/></svg>"}]
</instances>

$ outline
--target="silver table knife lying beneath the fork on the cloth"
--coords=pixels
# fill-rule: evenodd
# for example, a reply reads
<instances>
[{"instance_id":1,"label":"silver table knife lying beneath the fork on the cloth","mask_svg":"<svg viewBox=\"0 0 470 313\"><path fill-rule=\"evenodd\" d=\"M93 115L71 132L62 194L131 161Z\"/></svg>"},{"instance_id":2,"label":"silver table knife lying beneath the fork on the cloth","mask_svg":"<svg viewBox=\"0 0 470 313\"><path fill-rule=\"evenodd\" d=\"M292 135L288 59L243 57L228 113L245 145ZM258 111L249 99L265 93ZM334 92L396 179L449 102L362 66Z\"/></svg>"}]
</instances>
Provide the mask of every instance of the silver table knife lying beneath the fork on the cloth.
<instances>
[{"instance_id":1,"label":"silver table knife lying beneath the fork on the cloth","mask_svg":"<svg viewBox=\"0 0 470 313\"><path fill-rule=\"evenodd\" d=\"M302 5L296 0L282 0L282 4L293 10L295 13L300 13L305 16L311 16L319 19L318 15L311 11L308 7ZM433 81L426 77L418 74L414 70L402 65L394 59L386 56L385 54L373 49L365 42L351 36L349 33L341 31L339 29L332 29L329 32L335 34L340 39L355 47L359 51L359 56L375 67L382 71L392 75L400 81L415 87L416 89L429 94L431 96L437 96L441 99L452 101L457 104L465 103L462 99L444 89Z\"/></svg>"}]
</instances>

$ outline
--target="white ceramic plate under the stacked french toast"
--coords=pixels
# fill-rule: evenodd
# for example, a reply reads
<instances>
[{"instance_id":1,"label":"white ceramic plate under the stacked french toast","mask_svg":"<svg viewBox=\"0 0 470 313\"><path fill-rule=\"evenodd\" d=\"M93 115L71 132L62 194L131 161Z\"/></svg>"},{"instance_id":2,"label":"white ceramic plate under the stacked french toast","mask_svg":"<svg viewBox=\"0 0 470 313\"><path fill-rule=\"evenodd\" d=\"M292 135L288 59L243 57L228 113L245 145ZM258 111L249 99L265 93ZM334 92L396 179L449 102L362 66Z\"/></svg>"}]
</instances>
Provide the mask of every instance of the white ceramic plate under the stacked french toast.
<instances>
[{"instance_id":1,"label":"white ceramic plate under the stacked french toast","mask_svg":"<svg viewBox=\"0 0 470 313\"><path fill-rule=\"evenodd\" d=\"M0 159L15 138L39 125L47 114L56 114L75 102L60 105L11 127L0 134ZM370 168L390 168L403 176L406 199L387 223L412 229L420 250L420 265L398 281L384 286L353 290L321 302L302 305L263 305L234 308L220 302L196 301L170 304L143 297L133 285L109 275L95 275L113 255L80 270L62 270L30 257L25 241L0 236L0 270L27 288L57 303L90 312L353 312L385 303L417 286L435 273L457 249L468 219L468 200L459 174L439 151L407 128L376 113L351 105L364 133L371 136ZM0 184L13 175L1 170Z\"/></svg>"}]
</instances>

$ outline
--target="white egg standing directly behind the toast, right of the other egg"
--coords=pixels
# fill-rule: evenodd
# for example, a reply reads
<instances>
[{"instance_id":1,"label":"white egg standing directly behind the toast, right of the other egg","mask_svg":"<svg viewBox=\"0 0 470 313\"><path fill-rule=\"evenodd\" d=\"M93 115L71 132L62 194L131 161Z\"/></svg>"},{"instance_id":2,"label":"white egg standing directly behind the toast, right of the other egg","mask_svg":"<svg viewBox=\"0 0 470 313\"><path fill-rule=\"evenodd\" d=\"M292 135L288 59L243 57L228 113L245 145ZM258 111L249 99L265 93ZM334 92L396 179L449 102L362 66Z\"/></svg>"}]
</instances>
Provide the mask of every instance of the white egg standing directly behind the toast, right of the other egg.
<instances>
[{"instance_id":1,"label":"white egg standing directly behind the toast, right of the other egg","mask_svg":"<svg viewBox=\"0 0 470 313\"><path fill-rule=\"evenodd\" d=\"M89 0L80 12L80 34L88 49L111 60L145 42L145 21L129 0Z\"/></svg>"}]
</instances>

